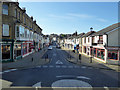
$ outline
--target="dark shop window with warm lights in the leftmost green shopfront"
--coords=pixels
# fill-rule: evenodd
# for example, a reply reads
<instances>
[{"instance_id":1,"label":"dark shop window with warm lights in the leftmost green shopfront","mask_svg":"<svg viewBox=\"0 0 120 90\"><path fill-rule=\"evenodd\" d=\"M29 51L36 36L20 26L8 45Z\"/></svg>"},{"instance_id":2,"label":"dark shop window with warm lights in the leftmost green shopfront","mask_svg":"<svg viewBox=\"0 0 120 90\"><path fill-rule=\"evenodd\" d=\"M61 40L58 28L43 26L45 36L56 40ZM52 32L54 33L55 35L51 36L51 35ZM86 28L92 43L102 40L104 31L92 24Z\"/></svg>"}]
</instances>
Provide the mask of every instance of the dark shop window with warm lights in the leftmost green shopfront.
<instances>
[{"instance_id":1,"label":"dark shop window with warm lights in the leftmost green shopfront","mask_svg":"<svg viewBox=\"0 0 120 90\"><path fill-rule=\"evenodd\" d=\"M2 45L2 59L10 59L10 45Z\"/></svg>"}]
</instances>

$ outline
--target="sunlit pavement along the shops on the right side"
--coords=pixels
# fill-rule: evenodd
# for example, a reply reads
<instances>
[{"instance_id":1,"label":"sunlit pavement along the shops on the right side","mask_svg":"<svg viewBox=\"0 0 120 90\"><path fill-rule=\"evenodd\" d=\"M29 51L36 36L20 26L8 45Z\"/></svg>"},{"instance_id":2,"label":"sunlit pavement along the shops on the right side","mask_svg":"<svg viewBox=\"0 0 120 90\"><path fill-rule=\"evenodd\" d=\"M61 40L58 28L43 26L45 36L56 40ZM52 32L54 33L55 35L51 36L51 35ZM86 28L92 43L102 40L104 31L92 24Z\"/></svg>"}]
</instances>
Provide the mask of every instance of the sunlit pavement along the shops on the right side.
<instances>
[{"instance_id":1,"label":"sunlit pavement along the shops on the right side","mask_svg":"<svg viewBox=\"0 0 120 90\"><path fill-rule=\"evenodd\" d=\"M120 71L120 69L119 69L120 66L118 66L118 65L106 64L106 63L98 61L94 58L92 58L92 63L90 63L90 57L83 55L83 54L81 54L81 61L80 61L77 53L74 53L74 52L72 52L72 50L68 50L65 48L62 48L62 49L71 55L71 58L68 58L67 60L74 64L84 65L84 66L94 67L94 68L99 68L99 69L114 70L117 72Z\"/></svg>"}]
</instances>

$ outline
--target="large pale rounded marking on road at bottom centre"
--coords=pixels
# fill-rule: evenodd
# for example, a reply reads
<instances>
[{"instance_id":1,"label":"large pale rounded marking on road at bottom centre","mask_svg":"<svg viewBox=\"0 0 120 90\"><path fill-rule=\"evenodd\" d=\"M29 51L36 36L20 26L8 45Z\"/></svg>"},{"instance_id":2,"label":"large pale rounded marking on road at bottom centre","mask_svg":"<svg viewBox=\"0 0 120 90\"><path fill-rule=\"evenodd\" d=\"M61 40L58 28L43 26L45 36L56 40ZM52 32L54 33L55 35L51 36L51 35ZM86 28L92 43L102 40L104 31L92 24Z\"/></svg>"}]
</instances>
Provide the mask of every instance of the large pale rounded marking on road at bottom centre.
<instances>
[{"instance_id":1,"label":"large pale rounded marking on road at bottom centre","mask_svg":"<svg viewBox=\"0 0 120 90\"><path fill-rule=\"evenodd\" d=\"M81 80L63 79L52 83L52 87L92 87L92 86L89 83Z\"/></svg>"}]
</instances>

